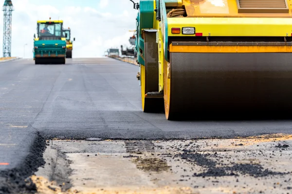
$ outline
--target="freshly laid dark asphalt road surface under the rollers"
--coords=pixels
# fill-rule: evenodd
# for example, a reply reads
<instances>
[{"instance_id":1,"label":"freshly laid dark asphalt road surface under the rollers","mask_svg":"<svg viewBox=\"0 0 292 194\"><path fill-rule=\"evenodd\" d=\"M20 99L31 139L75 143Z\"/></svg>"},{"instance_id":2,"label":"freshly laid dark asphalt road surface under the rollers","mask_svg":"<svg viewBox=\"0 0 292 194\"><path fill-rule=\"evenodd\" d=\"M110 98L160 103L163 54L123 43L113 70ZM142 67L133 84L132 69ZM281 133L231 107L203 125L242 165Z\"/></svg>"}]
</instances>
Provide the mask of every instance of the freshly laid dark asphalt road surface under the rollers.
<instances>
[{"instance_id":1,"label":"freshly laid dark asphalt road surface under the rollers","mask_svg":"<svg viewBox=\"0 0 292 194\"><path fill-rule=\"evenodd\" d=\"M110 58L0 63L0 194L45 163L46 140L171 140L292 134L292 120L167 121L143 113L139 67ZM31 185L34 189L34 185Z\"/></svg>"}]
</instances>

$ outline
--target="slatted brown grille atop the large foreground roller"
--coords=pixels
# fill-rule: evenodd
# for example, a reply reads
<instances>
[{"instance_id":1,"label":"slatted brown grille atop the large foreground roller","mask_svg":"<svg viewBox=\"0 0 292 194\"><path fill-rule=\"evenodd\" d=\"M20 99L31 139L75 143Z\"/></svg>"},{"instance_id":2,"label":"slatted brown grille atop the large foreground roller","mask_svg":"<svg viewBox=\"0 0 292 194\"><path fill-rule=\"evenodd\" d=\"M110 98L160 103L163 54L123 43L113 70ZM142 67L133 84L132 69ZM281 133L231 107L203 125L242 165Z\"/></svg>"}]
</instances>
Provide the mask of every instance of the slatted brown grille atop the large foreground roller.
<instances>
[{"instance_id":1,"label":"slatted brown grille atop the large foreground roller","mask_svg":"<svg viewBox=\"0 0 292 194\"><path fill-rule=\"evenodd\" d=\"M287 0L237 0L238 13L289 13Z\"/></svg>"}]
</instances>

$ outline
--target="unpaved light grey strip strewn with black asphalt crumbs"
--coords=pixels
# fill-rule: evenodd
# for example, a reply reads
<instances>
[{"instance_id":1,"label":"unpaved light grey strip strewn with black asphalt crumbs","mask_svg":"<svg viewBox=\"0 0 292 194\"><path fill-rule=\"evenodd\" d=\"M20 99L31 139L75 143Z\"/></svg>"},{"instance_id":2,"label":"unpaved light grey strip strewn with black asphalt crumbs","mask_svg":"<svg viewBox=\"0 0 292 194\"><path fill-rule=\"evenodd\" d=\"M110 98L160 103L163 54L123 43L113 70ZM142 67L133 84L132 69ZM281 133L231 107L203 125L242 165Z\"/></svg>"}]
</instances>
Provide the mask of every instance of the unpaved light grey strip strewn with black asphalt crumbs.
<instances>
[{"instance_id":1,"label":"unpaved light grey strip strewn with black asphalt crumbs","mask_svg":"<svg viewBox=\"0 0 292 194\"><path fill-rule=\"evenodd\" d=\"M170 141L54 140L48 144L44 152L47 163L32 177L43 193L292 193L289 135ZM52 155L52 150L59 154ZM60 156L68 161L61 164L68 169L67 182L54 184L49 171L42 169Z\"/></svg>"}]
</instances>

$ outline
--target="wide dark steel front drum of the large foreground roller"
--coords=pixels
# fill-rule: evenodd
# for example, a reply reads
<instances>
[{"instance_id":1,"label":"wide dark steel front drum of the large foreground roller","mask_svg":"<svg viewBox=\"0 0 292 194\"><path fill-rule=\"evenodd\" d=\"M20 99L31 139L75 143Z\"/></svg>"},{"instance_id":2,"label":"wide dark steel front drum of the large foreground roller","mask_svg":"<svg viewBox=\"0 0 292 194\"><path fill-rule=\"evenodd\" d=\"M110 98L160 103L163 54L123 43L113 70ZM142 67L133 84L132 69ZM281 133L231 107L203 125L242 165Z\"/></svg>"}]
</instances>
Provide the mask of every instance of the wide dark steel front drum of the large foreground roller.
<instances>
[{"instance_id":1,"label":"wide dark steel front drum of the large foreground roller","mask_svg":"<svg viewBox=\"0 0 292 194\"><path fill-rule=\"evenodd\" d=\"M291 53L171 52L169 68L167 119L292 110Z\"/></svg>"}]
</instances>

